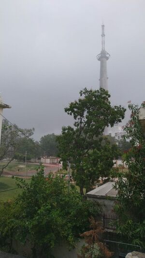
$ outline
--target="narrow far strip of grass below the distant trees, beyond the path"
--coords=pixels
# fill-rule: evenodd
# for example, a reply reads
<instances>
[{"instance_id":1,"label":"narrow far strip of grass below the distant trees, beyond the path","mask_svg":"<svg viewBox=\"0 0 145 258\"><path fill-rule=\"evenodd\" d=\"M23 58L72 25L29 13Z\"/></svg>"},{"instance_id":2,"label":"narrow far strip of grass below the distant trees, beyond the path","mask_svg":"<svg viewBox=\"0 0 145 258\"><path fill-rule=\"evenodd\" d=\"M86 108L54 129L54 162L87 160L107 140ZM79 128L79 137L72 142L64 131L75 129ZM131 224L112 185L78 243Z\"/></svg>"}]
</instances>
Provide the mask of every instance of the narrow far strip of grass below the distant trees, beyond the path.
<instances>
[{"instance_id":1,"label":"narrow far strip of grass below the distant trees, beyond the path","mask_svg":"<svg viewBox=\"0 0 145 258\"><path fill-rule=\"evenodd\" d=\"M0 166L6 164L5 162L0 162ZM27 164L26 169L28 170L36 170L36 168L39 167L39 165L35 164ZM17 171L25 171L25 164L24 163L13 163L11 162L6 168L6 171L12 171L12 172L17 172Z\"/></svg>"}]
</instances>

